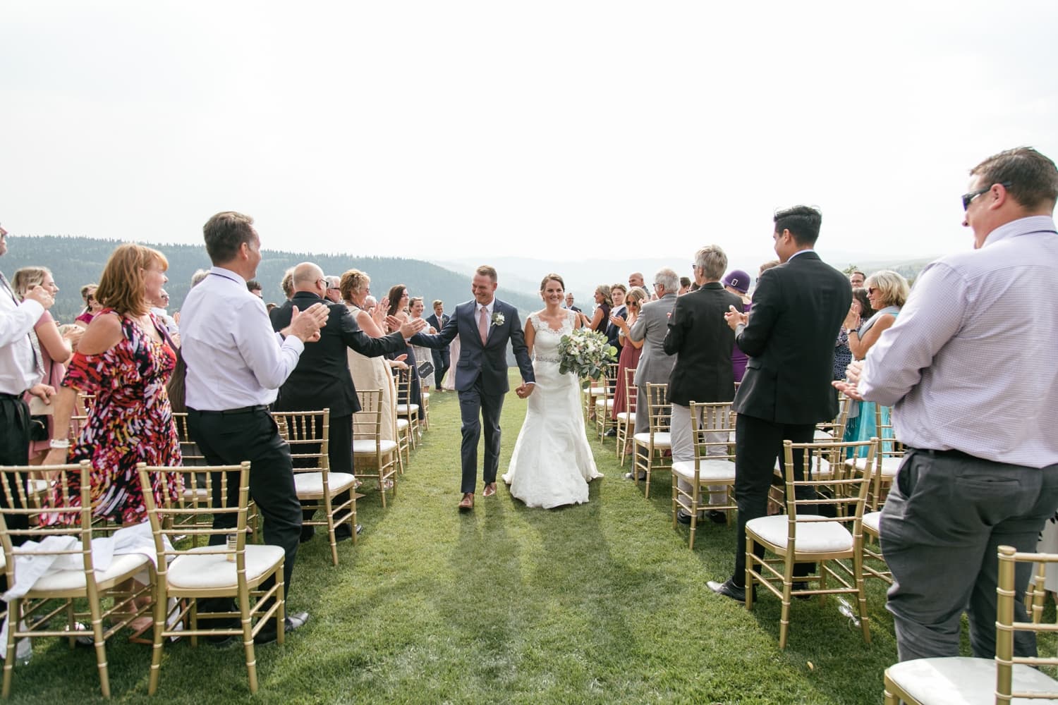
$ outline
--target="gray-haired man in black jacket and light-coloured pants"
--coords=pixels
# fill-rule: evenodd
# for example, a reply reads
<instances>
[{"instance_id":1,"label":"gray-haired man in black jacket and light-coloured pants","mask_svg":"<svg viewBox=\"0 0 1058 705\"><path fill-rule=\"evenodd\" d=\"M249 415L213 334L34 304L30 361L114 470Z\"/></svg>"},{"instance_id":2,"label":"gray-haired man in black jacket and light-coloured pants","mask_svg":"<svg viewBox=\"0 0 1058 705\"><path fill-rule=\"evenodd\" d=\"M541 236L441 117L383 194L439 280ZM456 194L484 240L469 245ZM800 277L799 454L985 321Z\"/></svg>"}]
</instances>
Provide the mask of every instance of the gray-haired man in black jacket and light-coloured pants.
<instances>
[{"instance_id":1,"label":"gray-haired man in black jacket and light-coloured pants","mask_svg":"<svg viewBox=\"0 0 1058 705\"><path fill-rule=\"evenodd\" d=\"M694 256L694 280L698 291L678 296L669 318L664 336L665 354L676 355L669 375L669 401L672 402L672 460L694 461L691 427L691 402L730 402L734 396L734 368L731 349L734 332L724 320L729 307L742 307L742 299L724 289L720 277L727 270L727 255L719 245L706 245ZM703 420L712 426L714 420ZM710 441L724 439L710 439ZM710 446L710 450L714 446ZM715 448L723 450L719 446ZM679 480L685 491L691 483ZM718 490L723 490L719 487ZM715 497L719 503L723 496ZM726 521L723 513L710 513L714 521ZM691 523L682 509L676 516Z\"/></svg>"}]
</instances>

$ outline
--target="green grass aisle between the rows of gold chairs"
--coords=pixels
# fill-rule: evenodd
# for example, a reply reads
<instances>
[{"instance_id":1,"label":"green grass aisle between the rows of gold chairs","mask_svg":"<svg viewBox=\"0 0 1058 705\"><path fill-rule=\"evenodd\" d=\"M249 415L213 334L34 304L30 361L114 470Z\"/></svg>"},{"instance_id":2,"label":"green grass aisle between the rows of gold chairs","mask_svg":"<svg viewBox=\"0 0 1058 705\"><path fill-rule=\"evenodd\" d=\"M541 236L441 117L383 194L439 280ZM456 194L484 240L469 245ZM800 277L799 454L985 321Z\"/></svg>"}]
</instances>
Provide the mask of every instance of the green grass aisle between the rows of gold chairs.
<instances>
[{"instance_id":1,"label":"green grass aisle between the rows of gold chairs","mask_svg":"<svg viewBox=\"0 0 1058 705\"><path fill-rule=\"evenodd\" d=\"M396 501L383 512L370 491L359 503L359 545L340 544L333 568L321 536L303 544L291 609L312 616L284 647L257 650L257 698L241 649L176 644L148 701L150 649L118 637L113 702L880 702L896 650L877 581L871 645L833 599L798 601L780 651L777 599L746 612L706 587L730 574L734 530L706 524L689 551L686 527L670 524L667 472L645 500L613 441L592 441L606 477L587 504L526 509L500 483L460 515L458 400L431 405ZM524 414L509 394L500 472ZM14 701L102 702L92 651L40 641Z\"/></svg>"}]
</instances>

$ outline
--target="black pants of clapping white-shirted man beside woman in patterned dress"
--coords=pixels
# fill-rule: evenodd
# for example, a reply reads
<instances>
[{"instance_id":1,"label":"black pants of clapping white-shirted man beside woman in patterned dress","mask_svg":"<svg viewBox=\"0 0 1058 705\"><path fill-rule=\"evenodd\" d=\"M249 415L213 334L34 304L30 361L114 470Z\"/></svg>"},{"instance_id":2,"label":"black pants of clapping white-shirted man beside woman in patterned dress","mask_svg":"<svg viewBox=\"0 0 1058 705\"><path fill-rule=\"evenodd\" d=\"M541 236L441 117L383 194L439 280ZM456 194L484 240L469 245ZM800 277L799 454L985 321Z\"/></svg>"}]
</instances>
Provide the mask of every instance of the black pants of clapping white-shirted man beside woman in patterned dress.
<instances>
[{"instance_id":1,"label":"black pants of clapping white-shirted man beside woman in patterned dress","mask_svg":"<svg viewBox=\"0 0 1058 705\"><path fill-rule=\"evenodd\" d=\"M294 471L290 462L290 446L279 435L279 429L268 410L243 413L222 413L187 409L191 438L202 449L211 465L238 465L250 461L250 494L264 518L264 542L282 548L286 553L284 581L290 595L291 575L302 536L302 506L294 489ZM238 483L229 481L229 506L238 501ZM214 502L220 502L220 481L213 481ZM214 527L235 526L234 514L214 519ZM223 536L211 538L211 543L223 541ZM267 587L271 587L270 585Z\"/></svg>"}]
</instances>

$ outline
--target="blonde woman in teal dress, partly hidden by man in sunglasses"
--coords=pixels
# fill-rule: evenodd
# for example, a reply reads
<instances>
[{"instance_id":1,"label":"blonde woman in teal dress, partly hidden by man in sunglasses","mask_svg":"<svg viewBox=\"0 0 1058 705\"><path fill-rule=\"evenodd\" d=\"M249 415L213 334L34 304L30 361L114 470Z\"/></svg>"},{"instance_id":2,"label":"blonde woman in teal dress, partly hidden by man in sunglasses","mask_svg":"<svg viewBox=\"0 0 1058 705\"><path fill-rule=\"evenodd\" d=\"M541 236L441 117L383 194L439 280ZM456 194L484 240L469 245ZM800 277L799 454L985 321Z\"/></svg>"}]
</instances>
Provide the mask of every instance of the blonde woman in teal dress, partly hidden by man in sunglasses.
<instances>
[{"instance_id":1,"label":"blonde woman in teal dress, partly hidden by man in sunglasses","mask_svg":"<svg viewBox=\"0 0 1058 705\"><path fill-rule=\"evenodd\" d=\"M850 311L844 327L849 333L849 349L854 359L863 359L868 351L878 341L881 334L896 322L900 308L911 293L908 280L891 270L875 272L867 278L867 296L875 313L865 322L860 322L859 314ZM844 441L870 441L878 435L877 411L874 402L858 402L854 408L858 413L850 413L845 425ZM890 426L889 407L881 408L881 425ZM883 438L893 438L891 428L886 428ZM890 444L892 445L892 444ZM891 450L887 448L886 450ZM867 448L859 454L867 456Z\"/></svg>"}]
</instances>

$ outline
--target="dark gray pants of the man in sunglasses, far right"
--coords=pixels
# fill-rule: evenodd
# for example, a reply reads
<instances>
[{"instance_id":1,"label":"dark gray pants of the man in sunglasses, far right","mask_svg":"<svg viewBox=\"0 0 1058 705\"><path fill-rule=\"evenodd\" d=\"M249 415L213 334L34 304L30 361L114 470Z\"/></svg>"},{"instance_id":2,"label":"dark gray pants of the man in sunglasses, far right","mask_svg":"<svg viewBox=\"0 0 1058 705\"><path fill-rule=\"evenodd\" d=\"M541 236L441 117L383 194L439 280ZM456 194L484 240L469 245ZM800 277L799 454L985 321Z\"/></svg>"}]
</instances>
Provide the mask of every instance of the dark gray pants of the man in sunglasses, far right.
<instances>
[{"instance_id":1,"label":"dark gray pants of the man in sunglasses, far right","mask_svg":"<svg viewBox=\"0 0 1058 705\"><path fill-rule=\"evenodd\" d=\"M1032 468L957 451L908 451L881 513L881 551L893 572L900 661L957 656L960 620L970 623L973 655L996 655L998 549L1035 552L1058 508L1058 465ZM1019 563L1016 620L1032 564ZM1036 655L1034 634L1017 632L1015 654Z\"/></svg>"}]
</instances>

